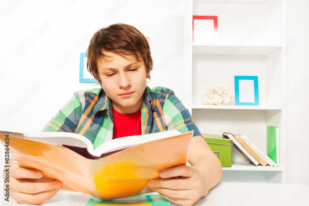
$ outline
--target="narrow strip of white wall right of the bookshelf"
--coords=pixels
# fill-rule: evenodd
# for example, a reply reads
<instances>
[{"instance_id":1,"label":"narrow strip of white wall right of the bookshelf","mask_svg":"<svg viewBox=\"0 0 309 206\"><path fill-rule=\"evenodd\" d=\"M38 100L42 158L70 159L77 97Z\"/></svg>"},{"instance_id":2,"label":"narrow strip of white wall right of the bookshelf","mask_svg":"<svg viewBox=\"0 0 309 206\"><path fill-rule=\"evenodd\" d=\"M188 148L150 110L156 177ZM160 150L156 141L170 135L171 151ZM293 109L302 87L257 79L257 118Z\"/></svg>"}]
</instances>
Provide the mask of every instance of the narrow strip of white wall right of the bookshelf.
<instances>
[{"instance_id":1,"label":"narrow strip of white wall right of the bookshelf","mask_svg":"<svg viewBox=\"0 0 309 206\"><path fill-rule=\"evenodd\" d=\"M290 40L296 41L286 52L286 98L293 97L286 106L286 183L307 184L309 183L309 2L287 0L286 3L286 42L288 44Z\"/></svg>"}]
</instances>

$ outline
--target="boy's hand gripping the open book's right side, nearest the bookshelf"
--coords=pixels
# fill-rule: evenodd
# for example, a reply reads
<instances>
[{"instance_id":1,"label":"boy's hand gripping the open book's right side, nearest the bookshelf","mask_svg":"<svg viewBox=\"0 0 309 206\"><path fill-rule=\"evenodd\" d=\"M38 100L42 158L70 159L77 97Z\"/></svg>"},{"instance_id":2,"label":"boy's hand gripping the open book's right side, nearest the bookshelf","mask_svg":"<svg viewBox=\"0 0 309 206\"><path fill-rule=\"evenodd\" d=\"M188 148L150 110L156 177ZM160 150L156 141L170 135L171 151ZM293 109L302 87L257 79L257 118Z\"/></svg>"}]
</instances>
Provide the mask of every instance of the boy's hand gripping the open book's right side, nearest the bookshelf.
<instances>
[{"instance_id":1,"label":"boy's hand gripping the open book's right side, nearest the bookshelf","mask_svg":"<svg viewBox=\"0 0 309 206\"><path fill-rule=\"evenodd\" d=\"M203 183L199 170L194 166L180 165L160 172L162 179L148 182L151 190L167 200L189 206L207 195L207 183Z\"/></svg>"}]
</instances>

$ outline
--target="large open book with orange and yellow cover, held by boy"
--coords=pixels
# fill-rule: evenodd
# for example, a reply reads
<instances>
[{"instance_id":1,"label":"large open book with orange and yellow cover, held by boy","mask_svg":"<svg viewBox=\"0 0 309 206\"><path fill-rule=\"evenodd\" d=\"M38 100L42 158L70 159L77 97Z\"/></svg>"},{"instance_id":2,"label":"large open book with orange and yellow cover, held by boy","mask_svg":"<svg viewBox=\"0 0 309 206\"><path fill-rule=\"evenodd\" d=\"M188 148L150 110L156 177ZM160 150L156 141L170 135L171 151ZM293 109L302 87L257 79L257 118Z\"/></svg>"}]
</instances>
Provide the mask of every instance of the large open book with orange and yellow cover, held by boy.
<instances>
[{"instance_id":1,"label":"large open book with orange and yellow cover, held by boy","mask_svg":"<svg viewBox=\"0 0 309 206\"><path fill-rule=\"evenodd\" d=\"M116 200L152 192L150 179L186 164L192 136L193 131L171 130L121 137L93 149L86 137L68 132L0 131L0 142L9 145L19 166L61 181L62 189Z\"/></svg>"}]
</instances>

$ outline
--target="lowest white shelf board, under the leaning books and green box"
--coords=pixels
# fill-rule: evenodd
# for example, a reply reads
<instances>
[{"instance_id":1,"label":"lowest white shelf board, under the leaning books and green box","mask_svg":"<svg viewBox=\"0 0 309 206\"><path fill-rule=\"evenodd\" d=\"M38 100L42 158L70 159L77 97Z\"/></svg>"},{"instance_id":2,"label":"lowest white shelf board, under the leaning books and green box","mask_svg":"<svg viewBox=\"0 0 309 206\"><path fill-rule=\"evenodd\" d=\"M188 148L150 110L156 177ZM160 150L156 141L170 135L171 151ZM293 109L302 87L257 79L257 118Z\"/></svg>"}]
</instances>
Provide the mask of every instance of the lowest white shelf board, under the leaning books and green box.
<instances>
[{"instance_id":1,"label":"lowest white shelf board, under the leaning books and green box","mask_svg":"<svg viewBox=\"0 0 309 206\"><path fill-rule=\"evenodd\" d=\"M281 166L255 166L248 161L232 161L231 167L222 167L222 170L242 170L242 171L282 171Z\"/></svg>"}]
</instances>

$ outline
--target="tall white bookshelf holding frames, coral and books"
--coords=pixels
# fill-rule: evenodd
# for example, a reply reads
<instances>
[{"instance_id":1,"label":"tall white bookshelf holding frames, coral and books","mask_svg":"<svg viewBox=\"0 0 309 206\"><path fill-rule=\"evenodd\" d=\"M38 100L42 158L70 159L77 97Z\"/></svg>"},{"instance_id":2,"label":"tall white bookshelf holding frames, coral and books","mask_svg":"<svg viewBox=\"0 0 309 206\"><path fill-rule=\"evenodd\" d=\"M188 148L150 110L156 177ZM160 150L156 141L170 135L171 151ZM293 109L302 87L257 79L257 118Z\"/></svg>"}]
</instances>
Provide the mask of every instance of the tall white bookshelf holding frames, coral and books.
<instances>
[{"instance_id":1,"label":"tall white bookshelf holding frames, coral and books","mask_svg":"<svg viewBox=\"0 0 309 206\"><path fill-rule=\"evenodd\" d=\"M267 126L280 127L280 166L254 166L232 147L232 167L223 167L222 182L286 183L286 161L282 157L285 151L282 102L286 98L282 49L286 45L286 14L285 3L278 8L275 5L275 0L185 1L184 42L188 37L192 39L193 15L218 16L219 42L191 42L184 49L183 103L200 131L245 134L267 153ZM240 40L248 35L250 28L256 31L245 41ZM258 76L259 106L235 106L234 76ZM202 105L201 96L206 90L222 82L228 85L233 101L225 105Z\"/></svg>"}]
</instances>

